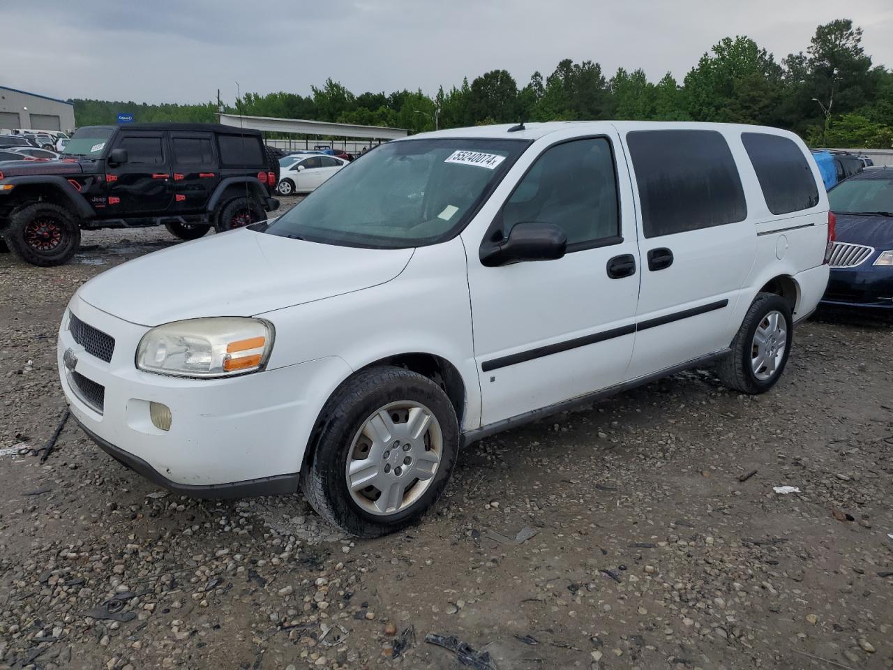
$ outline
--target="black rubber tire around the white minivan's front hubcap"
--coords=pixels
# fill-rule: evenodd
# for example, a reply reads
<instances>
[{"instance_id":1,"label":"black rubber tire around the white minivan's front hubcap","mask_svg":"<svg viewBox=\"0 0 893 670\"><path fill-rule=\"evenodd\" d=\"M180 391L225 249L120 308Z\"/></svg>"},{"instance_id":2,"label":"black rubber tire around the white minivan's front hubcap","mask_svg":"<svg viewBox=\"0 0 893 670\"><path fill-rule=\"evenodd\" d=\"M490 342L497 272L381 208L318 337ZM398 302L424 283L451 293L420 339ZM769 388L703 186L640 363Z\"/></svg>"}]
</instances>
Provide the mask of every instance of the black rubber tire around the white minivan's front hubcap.
<instances>
[{"instance_id":1,"label":"black rubber tire around the white minivan's front hubcap","mask_svg":"<svg viewBox=\"0 0 893 670\"><path fill-rule=\"evenodd\" d=\"M348 490L347 458L367 418L388 403L404 400L421 403L437 418L442 436L438 470L409 507L374 515L360 507ZM302 470L301 489L322 518L345 532L373 538L405 528L424 515L447 486L459 447L459 422L447 394L427 377L392 366L364 370L341 385L321 416L324 423Z\"/></svg>"}]
</instances>

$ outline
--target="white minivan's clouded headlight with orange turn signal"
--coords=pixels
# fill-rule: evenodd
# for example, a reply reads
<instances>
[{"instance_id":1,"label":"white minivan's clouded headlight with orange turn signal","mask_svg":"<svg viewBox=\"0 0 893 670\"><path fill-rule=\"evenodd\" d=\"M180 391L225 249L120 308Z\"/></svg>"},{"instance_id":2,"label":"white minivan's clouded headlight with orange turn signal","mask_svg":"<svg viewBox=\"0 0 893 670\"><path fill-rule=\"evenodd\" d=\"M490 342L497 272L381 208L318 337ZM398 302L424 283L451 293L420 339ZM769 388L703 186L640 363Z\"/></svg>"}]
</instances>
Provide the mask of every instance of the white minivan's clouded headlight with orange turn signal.
<instances>
[{"instance_id":1,"label":"white minivan's clouded headlight with orange turn signal","mask_svg":"<svg viewBox=\"0 0 893 670\"><path fill-rule=\"evenodd\" d=\"M165 323L139 340L137 367L175 377L229 377L260 370L270 357L273 326L223 316Z\"/></svg>"}]
</instances>

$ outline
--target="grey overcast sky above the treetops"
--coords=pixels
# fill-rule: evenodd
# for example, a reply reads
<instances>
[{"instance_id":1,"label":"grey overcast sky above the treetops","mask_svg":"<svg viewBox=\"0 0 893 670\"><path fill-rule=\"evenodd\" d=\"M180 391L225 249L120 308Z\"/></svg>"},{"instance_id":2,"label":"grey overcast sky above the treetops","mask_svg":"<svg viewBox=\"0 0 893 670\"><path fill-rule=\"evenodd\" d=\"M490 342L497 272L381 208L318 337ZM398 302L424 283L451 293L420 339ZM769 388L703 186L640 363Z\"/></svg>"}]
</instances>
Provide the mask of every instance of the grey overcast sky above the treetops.
<instances>
[{"instance_id":1,"label":"grey overcast sky above the treetops","mask_svg":"<svg viewBox=\"0 0 893 670\"><path fill-rule=\"evenodd\" d=\"M241 90L359 94L458 86L504 68L523 86L562 58L681 80L726 36L777 60L851 18L893 67L893 0L28 0L3 3L0 85L47 96L231 102Z\"/></svg>"}]
</instances>

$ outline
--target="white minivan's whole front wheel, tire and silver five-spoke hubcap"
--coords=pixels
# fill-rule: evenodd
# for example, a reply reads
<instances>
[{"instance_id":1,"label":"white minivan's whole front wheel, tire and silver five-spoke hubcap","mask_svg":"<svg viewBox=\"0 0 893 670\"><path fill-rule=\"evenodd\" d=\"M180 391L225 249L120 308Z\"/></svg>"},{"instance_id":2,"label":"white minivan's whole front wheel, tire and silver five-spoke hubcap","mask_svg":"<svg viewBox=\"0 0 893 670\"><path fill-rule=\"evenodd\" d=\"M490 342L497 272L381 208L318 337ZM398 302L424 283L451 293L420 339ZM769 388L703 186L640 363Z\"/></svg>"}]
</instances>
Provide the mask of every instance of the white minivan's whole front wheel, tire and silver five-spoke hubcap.
<instances>
[{"instance_id":1,"label":"white minivan's whole front wheel, tire and silver five-spoke hubcap","mask_svg":"<svg viewBox=\"0 0 893 670\"><path fill-rule=\"evenodd\" d=\"M365 538L398 531L447 486L459 424L447 394L427 377L371 368L342 384L322 416L301 488L342 530Z\"/></svg>"}]
</instances>

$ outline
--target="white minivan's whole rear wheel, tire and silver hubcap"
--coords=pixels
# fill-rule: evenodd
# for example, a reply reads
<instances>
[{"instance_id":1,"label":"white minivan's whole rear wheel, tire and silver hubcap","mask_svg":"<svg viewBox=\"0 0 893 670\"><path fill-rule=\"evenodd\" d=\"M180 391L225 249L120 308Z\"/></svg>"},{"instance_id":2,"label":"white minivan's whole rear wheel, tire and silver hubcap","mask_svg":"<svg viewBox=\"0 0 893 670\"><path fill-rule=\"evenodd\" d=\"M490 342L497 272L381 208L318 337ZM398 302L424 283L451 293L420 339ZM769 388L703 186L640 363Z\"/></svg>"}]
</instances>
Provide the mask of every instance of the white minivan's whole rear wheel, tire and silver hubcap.
<instances>
[{"instance_id":1,"label":"white minivan's whole rear wheel, tire and silver hubcap","mask_svg":"<svg viewBox=\"0 0 893 670\"><path fill-rule=\"evenodd\" d=\"M716 372L723 384L742 393L764 393L788 364L794 322L788 303L774 293L756 296Z\"/></svg>"}]
</instances>

